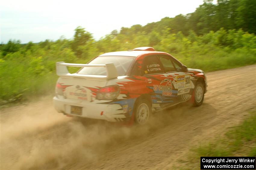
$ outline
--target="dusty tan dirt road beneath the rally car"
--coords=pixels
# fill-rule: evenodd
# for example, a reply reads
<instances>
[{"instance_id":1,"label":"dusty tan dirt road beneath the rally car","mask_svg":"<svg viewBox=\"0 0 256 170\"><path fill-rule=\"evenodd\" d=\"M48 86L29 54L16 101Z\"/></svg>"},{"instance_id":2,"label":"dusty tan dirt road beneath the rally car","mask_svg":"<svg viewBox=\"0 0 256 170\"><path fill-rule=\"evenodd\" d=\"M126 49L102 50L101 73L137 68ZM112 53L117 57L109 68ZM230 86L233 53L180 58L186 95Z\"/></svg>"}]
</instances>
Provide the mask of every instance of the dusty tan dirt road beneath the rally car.
<instances>
[{"instance_id":1,"label":"dusty tan dirt road beneath the rally car","mask_svg":"<svg viewBox=\"0 0 256 170\"><path fill-rule=\"evenodd\" d=\"M202 106L158 112L144 127L80 122L57 113L50 97L4 109L0 169L172 169L255 109L255 74L255 65L207 73Z\"/></svg>"}]
</instances>

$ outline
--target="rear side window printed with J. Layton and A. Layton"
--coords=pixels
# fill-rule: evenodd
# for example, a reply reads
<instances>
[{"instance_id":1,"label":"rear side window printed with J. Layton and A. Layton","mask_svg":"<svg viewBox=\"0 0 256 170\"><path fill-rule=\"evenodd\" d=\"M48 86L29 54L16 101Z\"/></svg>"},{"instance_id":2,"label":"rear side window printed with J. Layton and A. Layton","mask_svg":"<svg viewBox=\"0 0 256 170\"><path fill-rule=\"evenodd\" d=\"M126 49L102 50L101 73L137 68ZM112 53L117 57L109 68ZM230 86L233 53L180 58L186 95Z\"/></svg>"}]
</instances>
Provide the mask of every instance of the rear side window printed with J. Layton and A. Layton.
<instances>
[{"instance_id":1,"label":"rear side window printed with J. Layton and A. Layton","mask_svg":"<svg viewBox=\"0 0 256 170\"><path fill-rule=\"evenodd\" d=\"M164 73L164 68L161 61L156 55L146 56L143 60L142 74L157 74Z\"/></svg>"}]
</instances>

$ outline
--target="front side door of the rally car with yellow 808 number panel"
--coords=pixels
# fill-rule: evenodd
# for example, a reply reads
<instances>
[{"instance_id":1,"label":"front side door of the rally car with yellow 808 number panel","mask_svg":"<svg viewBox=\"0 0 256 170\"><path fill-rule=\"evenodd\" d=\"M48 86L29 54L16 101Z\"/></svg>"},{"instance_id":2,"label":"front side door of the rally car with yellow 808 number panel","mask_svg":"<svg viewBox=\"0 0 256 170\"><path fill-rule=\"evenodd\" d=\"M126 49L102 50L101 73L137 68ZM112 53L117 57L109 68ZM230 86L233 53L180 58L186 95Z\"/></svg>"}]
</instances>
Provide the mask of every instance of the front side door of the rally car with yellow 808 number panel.
<instances>
[{"instance_id":1,"label":"front side door of the rally car with yellow 808 number panel","mask_svg":"<svg viewBox=\"0 0 256 170\"><path fill-rule=\"evenodd\" d=\"M191 97L191 76L182 71L182 64L169 55L158 55L163 64L165 75L173 79L172 95L176 99L175 103L189 100Z\"/></svg>"}]
</instances>

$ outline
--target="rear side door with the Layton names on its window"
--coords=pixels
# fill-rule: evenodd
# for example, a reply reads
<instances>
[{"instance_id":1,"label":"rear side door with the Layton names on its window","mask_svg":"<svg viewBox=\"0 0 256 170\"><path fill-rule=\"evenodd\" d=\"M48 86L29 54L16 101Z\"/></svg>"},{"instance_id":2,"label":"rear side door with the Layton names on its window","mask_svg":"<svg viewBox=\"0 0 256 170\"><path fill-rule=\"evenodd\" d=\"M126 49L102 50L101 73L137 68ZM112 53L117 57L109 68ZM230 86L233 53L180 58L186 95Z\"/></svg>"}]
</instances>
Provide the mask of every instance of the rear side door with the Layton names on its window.
<instances>
[{"instance_id":1,"label":"rear side door with the Layton names on its window","mask_svg":"<svg viewBox=\"0 0 256 170\"><path fill-rule=\"evenodd\" d=\"M176 100L173 95L172 77L167 77L164 66L157 55L146 56L142 64L142 77L145 79L148 93L152 98L153 109L161 109Z\"/></svg>"}]
</instances>

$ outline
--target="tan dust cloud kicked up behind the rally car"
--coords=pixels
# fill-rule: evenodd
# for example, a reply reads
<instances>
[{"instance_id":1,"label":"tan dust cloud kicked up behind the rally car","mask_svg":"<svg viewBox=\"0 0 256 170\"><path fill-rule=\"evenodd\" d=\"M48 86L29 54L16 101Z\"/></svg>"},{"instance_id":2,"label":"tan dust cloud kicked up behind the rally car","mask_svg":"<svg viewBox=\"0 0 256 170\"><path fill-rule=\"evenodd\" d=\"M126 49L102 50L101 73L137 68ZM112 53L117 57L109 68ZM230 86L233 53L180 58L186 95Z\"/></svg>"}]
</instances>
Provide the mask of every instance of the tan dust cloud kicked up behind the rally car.
<instances>
[{"instance_id":1,"label":"tan dust cloud kicked up behind the rally car","mask_svg":"<svg viewBox=\"0 0 256 170\"><path fill-rule=\"evenodd\" d=\"M146 126L127 127L69 118L51 102L17 107L1 112L1 169L63 169L98 161L108 148L145 138L172 119L156 113Z\"/></svg>"}]
</instances>

